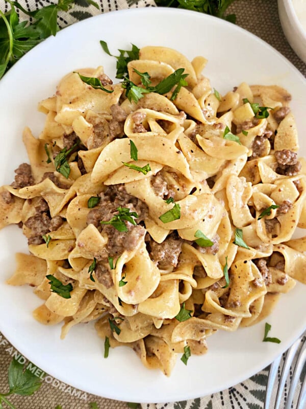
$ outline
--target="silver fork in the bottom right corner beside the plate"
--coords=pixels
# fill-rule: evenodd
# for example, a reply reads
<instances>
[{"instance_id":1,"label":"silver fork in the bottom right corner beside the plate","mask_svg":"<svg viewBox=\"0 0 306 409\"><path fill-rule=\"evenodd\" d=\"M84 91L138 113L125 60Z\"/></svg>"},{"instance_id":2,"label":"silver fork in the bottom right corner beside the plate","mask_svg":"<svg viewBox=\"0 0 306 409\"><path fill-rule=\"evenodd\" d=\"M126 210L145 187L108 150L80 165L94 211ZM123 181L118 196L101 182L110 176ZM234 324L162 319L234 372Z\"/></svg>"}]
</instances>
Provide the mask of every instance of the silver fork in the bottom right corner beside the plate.
<instances>
[{"instance_id":1,"label":"silver fork in the bottom right corner beside the plate","mask_svg":"<svg viewBox=\"0 0 306 409\"><path fill-rule=\"evenodd\" d=\"M268 376L268 383L267 383L267 388L266 388L264 409L273 409L273 408L279 409L281 405L281 399L282 399L282 394L284 391L285 383L286 383L286 380L287 380L287 377L290 371L290 367L292 365L295 355L297 354L297 350L302 342L302 347L298 353L296 364L293 370L293 375L292 375L292 379L290 383L289 392L287 395L286 405L285 407L282 406L282 408L284 407L284 409L291 408L291 404L293 401L297 382L301 375L303 367L306 363L306 338L302 341L302 338L305 335L306 335L306 332L304 333L304 335L298 338L296 342L286 352L285 363L283 366L281 379L279 379L279 382L278 382L278 388L277 388L274 406L273 404L270 406L270 401L271 401L272 391L273 391L273 387L275 383L275 378L278 373L279 364L281 363L281 359L283 355L279 356L278 358L274 360L273 363L271 363L270 370L269 370L269 376ZM305 409L305 408L306 408L306 377L303 379L298 401L296 404L296 409Z\"/></svg>"}]
</instances>

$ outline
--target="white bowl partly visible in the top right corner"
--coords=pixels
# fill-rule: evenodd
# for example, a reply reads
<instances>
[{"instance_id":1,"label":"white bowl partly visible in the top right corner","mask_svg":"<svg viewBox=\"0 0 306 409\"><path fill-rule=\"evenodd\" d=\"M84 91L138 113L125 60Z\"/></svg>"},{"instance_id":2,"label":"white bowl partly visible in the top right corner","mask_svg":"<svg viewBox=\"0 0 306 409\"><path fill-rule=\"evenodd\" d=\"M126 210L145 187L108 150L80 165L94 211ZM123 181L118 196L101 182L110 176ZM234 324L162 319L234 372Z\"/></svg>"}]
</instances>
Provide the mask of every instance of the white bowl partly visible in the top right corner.
<instances>
[{"instance_id":1,"label":"white bowl partly visible in the top right corner","mask_svg":"<svg viewBox=\"0 0 306 409\"><path fill-rule=\"evenodd\" d=\"M306 29L298 19L292 0L278 0L277 3L285 36L296 54L306 63Z\"/></svg>"}]
</instances>

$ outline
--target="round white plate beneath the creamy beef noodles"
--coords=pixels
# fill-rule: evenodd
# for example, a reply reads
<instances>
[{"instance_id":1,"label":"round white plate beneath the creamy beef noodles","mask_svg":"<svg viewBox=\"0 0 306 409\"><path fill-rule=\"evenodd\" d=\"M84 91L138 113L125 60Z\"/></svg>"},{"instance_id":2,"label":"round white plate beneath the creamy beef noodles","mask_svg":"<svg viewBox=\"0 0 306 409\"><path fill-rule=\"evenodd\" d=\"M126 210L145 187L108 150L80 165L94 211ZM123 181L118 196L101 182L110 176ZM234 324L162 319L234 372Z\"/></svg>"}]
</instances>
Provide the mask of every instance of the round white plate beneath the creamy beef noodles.
<instances>
[{"instance_id":1,"label":"round white plate beneath the creamy beef noodles","mask_svg":"<svg viewBox=\"0 0 306 409\"><path fill-rule=\"evenodd\" d=\"M101 49L129 49L130 43L166 46L192 59L208 58L205 74L213 87L225 93L242 81L278 84L293 96L292 108L300 131L301 151L306 154L306 82L282 55L248 32L223 20L175 9L134 9L99 15L73 25L25 55L0 81L2 146L0 183L11 183L13 169L27 161L21 142L24 125L34 134L42 129L44 115L37 102L52 96L60 78L85 66L104 65L115 77L115 59ZM21 231L9 226L0 232L0 329L10 342L37 366L58 379L92 394L132 402L184 400L217 392L236 384L267 366L306 328L306 287L297 284L267 321L271 336L282 343L263 343L265 323L219 331L208 339L208 353L192 356L185 366L180 358L170 378L145 369L129 348L110 350L92 325L73 327L60 340L60 326L45 327L33 319L41 303L31 288L10 287L5 279L14 270L14 253L27 252Z\"/></svg>"}]
</instances>

